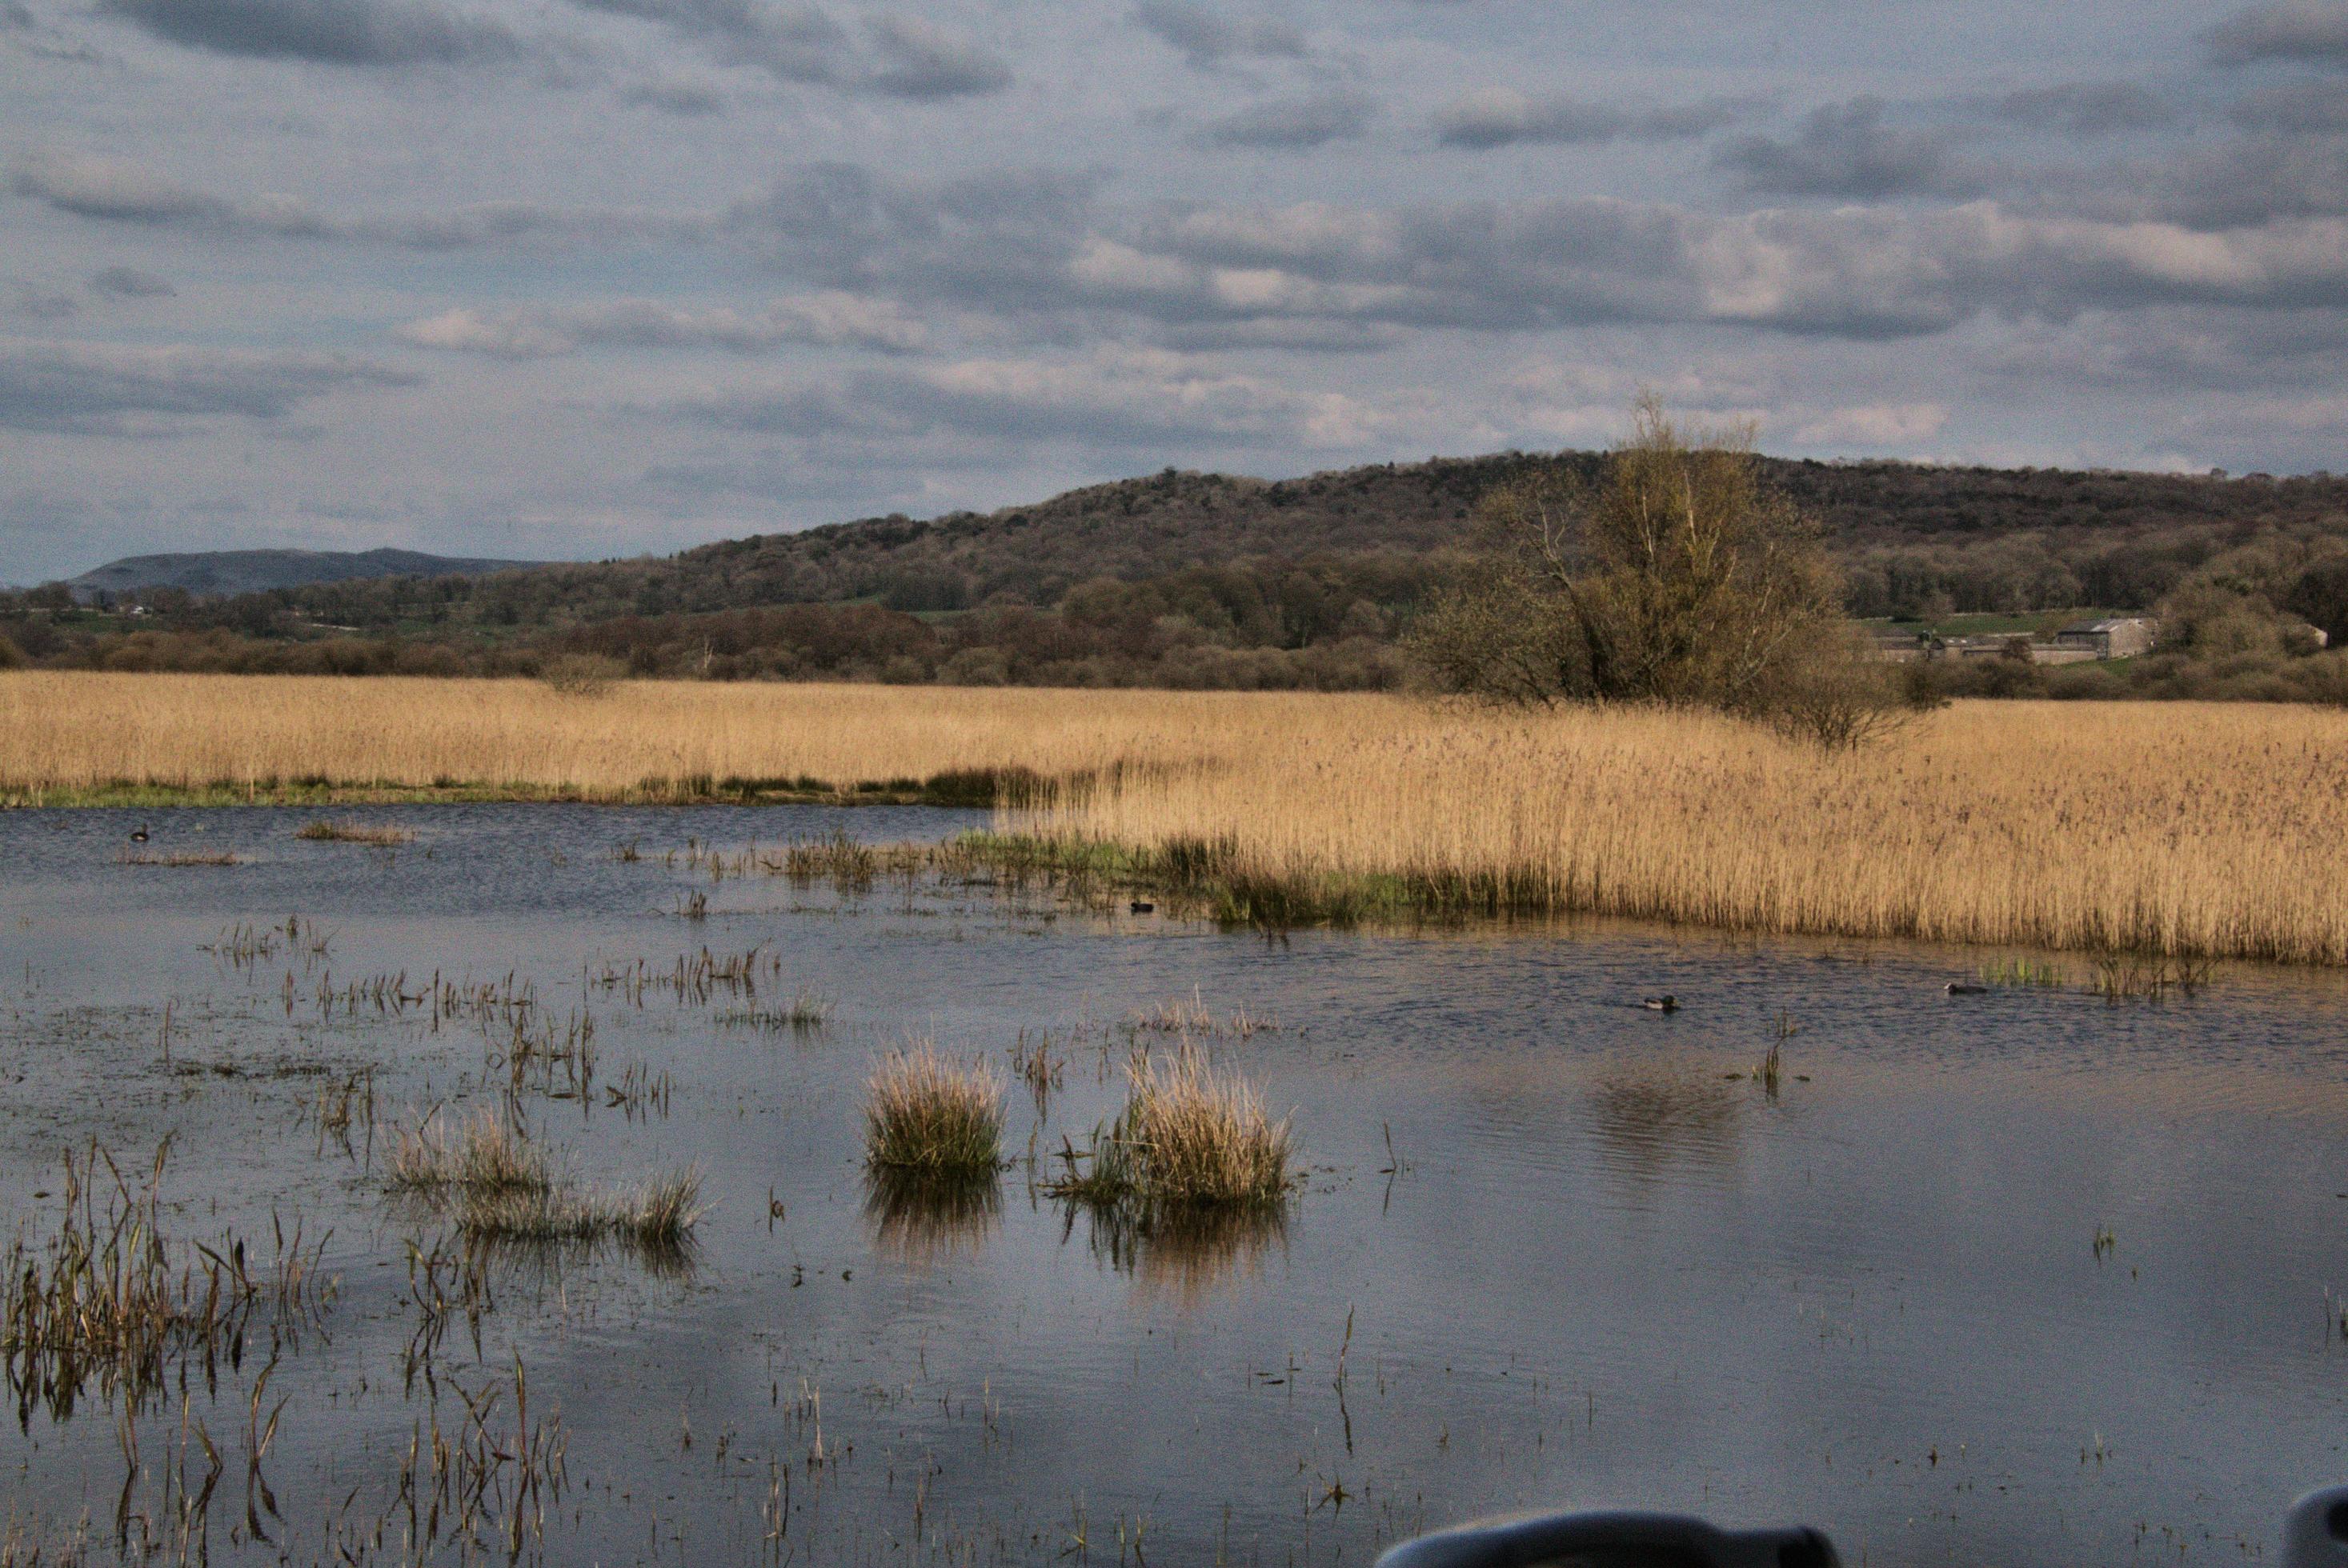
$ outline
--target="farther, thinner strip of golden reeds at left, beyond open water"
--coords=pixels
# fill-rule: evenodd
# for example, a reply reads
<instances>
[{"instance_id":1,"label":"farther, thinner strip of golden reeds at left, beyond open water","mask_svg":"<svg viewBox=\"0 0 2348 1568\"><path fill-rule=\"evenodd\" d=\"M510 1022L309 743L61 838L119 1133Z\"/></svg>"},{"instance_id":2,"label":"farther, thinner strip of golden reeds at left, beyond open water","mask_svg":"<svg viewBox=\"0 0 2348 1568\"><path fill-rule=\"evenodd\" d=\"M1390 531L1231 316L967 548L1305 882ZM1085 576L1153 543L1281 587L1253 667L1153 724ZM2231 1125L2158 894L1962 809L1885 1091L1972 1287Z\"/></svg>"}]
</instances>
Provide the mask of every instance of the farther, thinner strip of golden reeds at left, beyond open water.
<instances>
[{"instance_id":1,"label":"farther, thinner strip of golden reeds at left, beyond open water","mask_svg":"<svg viewBox=\"0 0 2348 1568\"><path fill-rule=\"evenodd\" d=\"M1247 697L622 681L0 674L0 796L310 798L448 791L669 800L918 793L991 805L1005 777L1197 756Z\"/></svg>"}]
</instances>

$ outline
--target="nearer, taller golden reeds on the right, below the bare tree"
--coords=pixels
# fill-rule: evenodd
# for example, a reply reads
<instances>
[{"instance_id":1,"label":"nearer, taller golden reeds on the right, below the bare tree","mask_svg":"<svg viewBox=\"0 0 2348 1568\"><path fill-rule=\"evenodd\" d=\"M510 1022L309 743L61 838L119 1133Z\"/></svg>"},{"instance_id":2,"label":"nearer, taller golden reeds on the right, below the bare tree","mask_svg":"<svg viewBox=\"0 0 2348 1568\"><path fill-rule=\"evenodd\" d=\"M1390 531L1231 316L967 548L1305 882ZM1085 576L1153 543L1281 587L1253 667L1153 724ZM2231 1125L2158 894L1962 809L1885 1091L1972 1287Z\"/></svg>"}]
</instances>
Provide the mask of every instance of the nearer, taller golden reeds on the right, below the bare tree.
<instances>
[{"instance_id":1,"label":"nearer, taller golden reeds on the right, below the bare tree","mask_svg":"<svg viewBox=\"0 0 2348 1568\"><path fill-rule=\"evenodd\" d=\"M1977 702L1834 756L1702 714L1287 718L1005 826L1261 925L1601 913L2348 962L2348 714Z\"/></svg>"}]
</instances>

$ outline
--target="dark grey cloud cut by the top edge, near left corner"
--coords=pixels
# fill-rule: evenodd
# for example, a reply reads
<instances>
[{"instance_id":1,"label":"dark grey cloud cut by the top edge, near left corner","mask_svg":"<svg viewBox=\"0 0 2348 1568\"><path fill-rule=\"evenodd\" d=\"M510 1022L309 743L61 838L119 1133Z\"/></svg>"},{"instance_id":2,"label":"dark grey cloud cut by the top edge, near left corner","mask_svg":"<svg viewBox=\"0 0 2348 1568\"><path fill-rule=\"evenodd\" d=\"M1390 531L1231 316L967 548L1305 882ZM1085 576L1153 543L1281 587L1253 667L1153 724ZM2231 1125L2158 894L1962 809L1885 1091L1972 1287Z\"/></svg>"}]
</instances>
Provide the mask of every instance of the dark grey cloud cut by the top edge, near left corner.
<instances>
[{"instance_id":1,"label":"dark grey cloud cut by the top edge, near left corner","mask_svg":"<svg viewBox=\"0 0 2348 1568\"><path fill-rule=\"evenodd\" d=\"M101 0L174 45L329 66L458 66L510 61L507 28L434 0Z\"/></svg>"}]
</instances>

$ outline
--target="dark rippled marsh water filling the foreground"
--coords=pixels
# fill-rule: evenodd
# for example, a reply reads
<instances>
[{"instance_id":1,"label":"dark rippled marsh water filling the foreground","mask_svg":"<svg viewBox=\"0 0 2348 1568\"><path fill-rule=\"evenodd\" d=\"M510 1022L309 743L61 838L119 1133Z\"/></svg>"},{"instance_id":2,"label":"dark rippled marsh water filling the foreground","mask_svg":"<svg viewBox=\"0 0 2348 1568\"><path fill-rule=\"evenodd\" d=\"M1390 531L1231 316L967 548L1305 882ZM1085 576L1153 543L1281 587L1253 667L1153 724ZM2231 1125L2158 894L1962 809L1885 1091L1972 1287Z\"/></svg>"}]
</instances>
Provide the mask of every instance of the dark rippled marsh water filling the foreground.
<instances>
[{"instance_id":1,"label":"dark rippled marsh water filling the foreground","mask_svg":"<svg viewBox=\"0 0 2348 1568\"><path fill-rule=\"evenodd\" d=\"M352 815L413 843L0 815L0 1192L28 1249L68 1150L136 1188L169 1141L174 1261L298 1225L336 1282L160 1390L82 1368L35 1397L12 1366L9 1509L38 1530L301 1563L1367 1563L1477 1514L1632 1505L1815 1523L1853 1563L2134 1563L2273 1556L2287 1500L2348 1479L2339 976L1949 995L1989 955L1263 937L744 859L979 822L937 810ZM190 852L237 864L136 864ZM704 948L756 960L660 979ZM427 986L472 1002L402 1002ZM1639 1007L1660 993L1679 1009ZM517 995L592 1019L585 1091L517 1084ZM803 995L824 1021L777 1023ZM1019 1160L979 1199L866 1183L862 1087L909 1038L1005 1075ZM1294 1115L1305 1181L1277 1223L1104 1235L1040 1183L1129 1054L1181 1038ZM1010 1073L1038 1045L1040 1099ZM695 1244L477 1261L418 1368L446 1221L383 1176L434 1106L524 1117L578 1181L697 1162ZM517 1368L552 1474L500 1507L517 1460L430 1519L411 1446L514 1430Z\"/></svg>"}]
</instances>

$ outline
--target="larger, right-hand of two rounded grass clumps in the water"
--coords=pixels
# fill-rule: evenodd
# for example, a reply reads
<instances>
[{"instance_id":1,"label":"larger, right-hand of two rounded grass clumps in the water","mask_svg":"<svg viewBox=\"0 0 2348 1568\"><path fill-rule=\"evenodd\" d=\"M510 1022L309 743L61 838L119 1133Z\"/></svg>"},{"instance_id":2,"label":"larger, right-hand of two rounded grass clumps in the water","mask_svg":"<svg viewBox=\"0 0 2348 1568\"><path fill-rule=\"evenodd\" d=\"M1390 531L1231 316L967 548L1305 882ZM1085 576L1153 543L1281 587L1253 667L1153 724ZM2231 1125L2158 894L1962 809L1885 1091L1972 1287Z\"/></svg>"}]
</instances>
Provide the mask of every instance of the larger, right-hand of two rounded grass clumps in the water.
<instances>
[{"instance_id":1,"label":"larger, right-hand of two rounded grass clumps in the water","mask_svg":"<svg viewBox=\"0 0 2348 1568\"><path fill-rule=\"evenodd\" d=\"M1136 1056L1118 1120L1092 1138L1089 1162L1068 1150L1050 1190L1089 1209L1141 1221L1207 1209L1273 1209L1291 1185L1291 1127L1270 1120L1237 1073L1197 1047Z\"/></svg>"}]
</instances>

